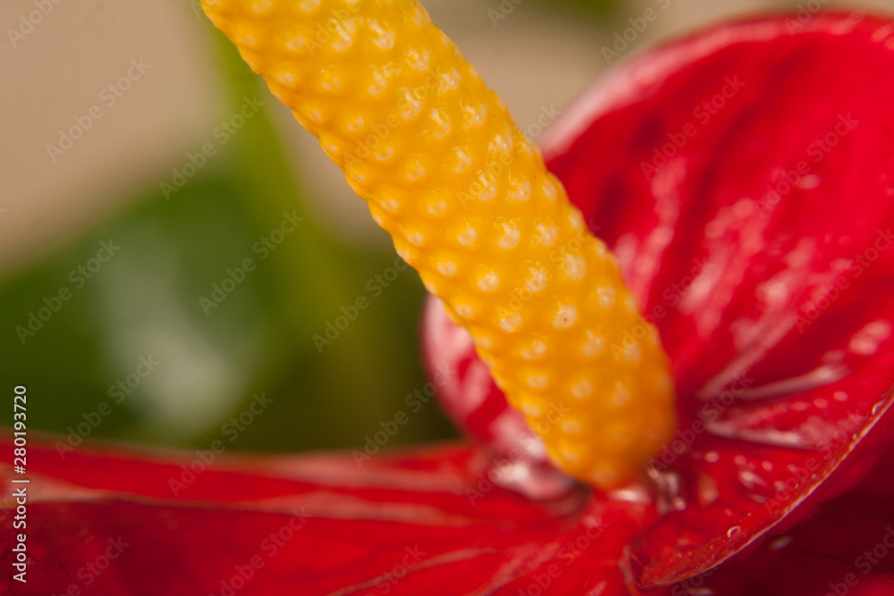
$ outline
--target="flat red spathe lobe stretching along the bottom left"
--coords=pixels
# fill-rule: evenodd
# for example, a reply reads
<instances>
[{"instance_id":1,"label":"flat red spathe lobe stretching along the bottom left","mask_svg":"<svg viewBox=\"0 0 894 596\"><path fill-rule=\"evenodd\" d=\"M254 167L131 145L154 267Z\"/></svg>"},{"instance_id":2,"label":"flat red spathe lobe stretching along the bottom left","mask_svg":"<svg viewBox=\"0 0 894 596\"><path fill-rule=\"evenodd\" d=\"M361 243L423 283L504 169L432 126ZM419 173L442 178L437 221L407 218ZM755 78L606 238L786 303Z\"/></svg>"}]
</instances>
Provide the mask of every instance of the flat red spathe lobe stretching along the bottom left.
<instances>
[{"instance_id":1,"label":"flat red spathe lobe stretching along the bottom left","mask_svg":"<svg viewBox=\"0 0 894 596\"><path fill-rule=\"evenodd\" d=\"M12 451L0 443L4 477ZM485 458L459 446L362 469L350 454L217 457L207 468L191 456L80 447L63 460L32 443L28 582L4 573L0 591L628 595L618 562L653 515L619 495L526 499L489 483ZM19 486L4 482L5 507ZM9 569L14 514L4 514Z\"/></svg>"}]
</instances>

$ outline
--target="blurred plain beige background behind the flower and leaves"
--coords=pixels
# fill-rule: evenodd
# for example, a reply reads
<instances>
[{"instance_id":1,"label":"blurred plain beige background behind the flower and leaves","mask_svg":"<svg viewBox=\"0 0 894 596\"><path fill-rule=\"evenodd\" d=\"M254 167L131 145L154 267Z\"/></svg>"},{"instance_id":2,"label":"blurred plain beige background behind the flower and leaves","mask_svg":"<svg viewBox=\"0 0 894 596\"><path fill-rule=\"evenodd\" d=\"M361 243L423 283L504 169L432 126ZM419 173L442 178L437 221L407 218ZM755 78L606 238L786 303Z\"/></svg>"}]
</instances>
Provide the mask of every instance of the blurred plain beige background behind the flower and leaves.
<instances>
[{"instance_id":1,"label":"blurred plain beige background behind the flower and leaves","mask_svg":"<svg viewBox=\"0 0 894 596\"><path fill-rule=\"evenodd\" d=\"M798 3L635 0L616 4L598 22L533 1L504 0L502 9L500 0L423 4L526 128L551 106L553 112L563 109L598 78L608 68L602 46L628 26L628 17L650 6L659 7L660 18L622 59L714 21ZM892 0L830 1L826 7L894 12ZM494 11L505 18L497 20ZM223 113L203 19L195 0L0 4L0 271L46 253L121 208L121 197L132 196L128 187L159 179L207 139ZM108 105L106 88L126 76L131 59L148 68ZM58 145L60 130L77 125L76 117L85 122L94 106L101 118L62 155L49 155L47 145ZM313 206L321 220L351 242L386 242L316 140L288 110L278 114L297 172L322 190Z\"/></svg>"}]
</instances>

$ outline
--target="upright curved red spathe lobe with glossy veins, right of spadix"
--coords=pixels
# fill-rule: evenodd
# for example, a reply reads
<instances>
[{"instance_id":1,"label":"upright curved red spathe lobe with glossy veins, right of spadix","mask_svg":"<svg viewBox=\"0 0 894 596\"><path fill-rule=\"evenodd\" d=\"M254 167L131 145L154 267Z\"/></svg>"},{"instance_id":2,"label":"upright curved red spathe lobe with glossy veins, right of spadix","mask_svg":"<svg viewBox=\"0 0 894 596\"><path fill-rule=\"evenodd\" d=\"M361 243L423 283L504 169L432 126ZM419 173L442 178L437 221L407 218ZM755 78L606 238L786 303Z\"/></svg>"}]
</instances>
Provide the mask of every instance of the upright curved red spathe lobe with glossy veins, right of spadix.
<instances>
[{"instance_id":1,"label":"upright curved red spathe lobe with glossy veins, right of spadix","mask_svg":"<svg viewBox=\"0 0 894 596\"><path fill-rule=\"evenodd\" d=\"M678 385L641 585L794 523L891 442L891 72L889 21L725 25L614 71L544 139Z\"/></svg>"}]
</instances>

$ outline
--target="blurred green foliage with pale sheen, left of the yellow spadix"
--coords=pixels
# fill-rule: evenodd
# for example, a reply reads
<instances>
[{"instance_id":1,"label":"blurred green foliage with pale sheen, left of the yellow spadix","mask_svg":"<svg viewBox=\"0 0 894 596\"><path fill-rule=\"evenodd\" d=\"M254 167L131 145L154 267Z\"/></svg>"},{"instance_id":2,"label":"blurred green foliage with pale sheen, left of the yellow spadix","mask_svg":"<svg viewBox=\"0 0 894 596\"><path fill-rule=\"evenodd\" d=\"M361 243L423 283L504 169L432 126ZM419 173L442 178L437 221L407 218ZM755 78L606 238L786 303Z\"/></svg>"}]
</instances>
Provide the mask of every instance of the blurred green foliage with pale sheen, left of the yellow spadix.
<instances>
[{"instance_id":1,"label":"blurred green foliage with pale sheen, left of the yellow spadix","mask_svg":"<svg viewBox=\"0 0 894 596\"><path fill-rule=\"evenodd\" d=\"M312 221L266 107L235 117L272 99L232 45L210 35L232 134L209 131L206 163L199 143L198 167L184 157L182 179L164 172L131 208L0 280L5 386L28 385L32 428L66 434L80 424L93 438L203 447L227 421L248 419L252 394L263 393L272 403L239 431L239 449L362 446L425 383L421 284L407 270L374 297L393 252L345 246ZM120 250L76 281L71 272L110 239ZM21 341L16 328L63 287L72 297ZM321 350L314 335L358 297L367 309ZM393 443L450 433L431 404Z\"/></svg>"}]
</instances>

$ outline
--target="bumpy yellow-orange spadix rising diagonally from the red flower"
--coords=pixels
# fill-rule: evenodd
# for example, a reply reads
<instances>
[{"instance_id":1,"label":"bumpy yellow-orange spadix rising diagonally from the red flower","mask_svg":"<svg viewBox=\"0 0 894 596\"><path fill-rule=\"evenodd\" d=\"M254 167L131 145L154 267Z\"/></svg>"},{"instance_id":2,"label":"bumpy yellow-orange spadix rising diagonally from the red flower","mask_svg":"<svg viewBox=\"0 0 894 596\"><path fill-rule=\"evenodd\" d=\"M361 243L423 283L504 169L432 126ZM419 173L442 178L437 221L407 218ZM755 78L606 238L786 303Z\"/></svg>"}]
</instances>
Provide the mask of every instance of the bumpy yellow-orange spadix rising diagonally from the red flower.
<instances>
[{"instance_id":1,"label":"bumpy yellow-orange spadix rising diagonally from the red flower","mask_svg":"<svg viewBox=\"0 0 894 596\"><path fill-rule=\"evenodd\" d=\"M553 461L603 488L644 466L676 424L657 333L426 11L411 0L203 4L468 328ZM634 333L645 340L630 344Z\"/></svg>"}]
</instances>

